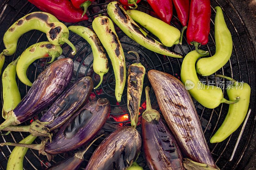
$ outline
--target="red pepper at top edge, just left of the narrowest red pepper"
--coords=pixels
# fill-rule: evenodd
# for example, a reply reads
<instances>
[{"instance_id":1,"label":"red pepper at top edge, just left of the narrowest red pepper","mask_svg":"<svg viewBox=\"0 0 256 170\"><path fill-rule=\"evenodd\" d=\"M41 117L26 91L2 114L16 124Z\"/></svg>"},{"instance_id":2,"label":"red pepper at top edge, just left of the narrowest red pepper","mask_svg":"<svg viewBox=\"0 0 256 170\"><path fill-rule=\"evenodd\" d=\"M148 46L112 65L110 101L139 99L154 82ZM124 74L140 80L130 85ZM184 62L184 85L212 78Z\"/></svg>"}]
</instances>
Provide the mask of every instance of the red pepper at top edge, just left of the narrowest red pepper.
<instances>
[{"instance_id":1,"label":"red pepper at top edge, just left of the narrowest red pepper","mask_svg":"<svg viewBox=\"0 0 256 170\"><path fill-rule=\"evenodd\" d=\"M158 17L170 24L172 19L172 0L147 0Z\"/></svg>"}]
</instances>

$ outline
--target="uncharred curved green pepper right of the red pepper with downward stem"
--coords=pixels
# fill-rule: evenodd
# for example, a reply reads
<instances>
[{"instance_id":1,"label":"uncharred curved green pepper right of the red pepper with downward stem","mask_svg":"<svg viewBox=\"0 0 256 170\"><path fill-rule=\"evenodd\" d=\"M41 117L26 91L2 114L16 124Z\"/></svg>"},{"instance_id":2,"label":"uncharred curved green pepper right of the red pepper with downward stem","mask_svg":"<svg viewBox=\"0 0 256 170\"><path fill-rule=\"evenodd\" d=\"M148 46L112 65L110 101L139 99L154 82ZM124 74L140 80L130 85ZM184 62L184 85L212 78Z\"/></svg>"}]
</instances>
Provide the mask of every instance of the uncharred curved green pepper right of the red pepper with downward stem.
<instances>
[{"instance_id":1,"label":"uncharred curved green pepper right of the red pepper with downward stem","mask_svg":"<svg viewBox=\"0 0 256 170\"><path fill-rule=\"evenodd\" d=\"M225 23L222 10L219 6L214 9L216 10L214 23L216 52L213 56L201 58L196 63L196 72L202 76L209 76L223 67L228 62L233 48L232 36Z\"/></svg>"}]
</instances>

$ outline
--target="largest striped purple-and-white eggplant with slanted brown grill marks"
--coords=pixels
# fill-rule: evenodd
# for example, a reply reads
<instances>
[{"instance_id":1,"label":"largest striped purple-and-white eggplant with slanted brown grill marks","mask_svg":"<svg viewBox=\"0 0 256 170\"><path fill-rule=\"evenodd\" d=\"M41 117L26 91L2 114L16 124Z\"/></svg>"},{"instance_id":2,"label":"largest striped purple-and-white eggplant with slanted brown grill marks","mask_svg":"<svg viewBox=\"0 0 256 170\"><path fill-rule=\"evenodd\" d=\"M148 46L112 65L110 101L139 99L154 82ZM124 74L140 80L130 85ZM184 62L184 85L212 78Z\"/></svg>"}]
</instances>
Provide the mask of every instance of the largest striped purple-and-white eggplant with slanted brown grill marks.
<instances>
[{"instance_id":1,"label":"largest striped purple-and-white eggplant with slanted brown grill marks","mask_svg":"<svg viewBox=\"0 0 256 170\"><path fill-rule=\"evenodd\" d=\"M215 167L193 101L185 86L170 74L149 70L148 79L169 129L184 156Z\"/></svg>"}]
</instances>

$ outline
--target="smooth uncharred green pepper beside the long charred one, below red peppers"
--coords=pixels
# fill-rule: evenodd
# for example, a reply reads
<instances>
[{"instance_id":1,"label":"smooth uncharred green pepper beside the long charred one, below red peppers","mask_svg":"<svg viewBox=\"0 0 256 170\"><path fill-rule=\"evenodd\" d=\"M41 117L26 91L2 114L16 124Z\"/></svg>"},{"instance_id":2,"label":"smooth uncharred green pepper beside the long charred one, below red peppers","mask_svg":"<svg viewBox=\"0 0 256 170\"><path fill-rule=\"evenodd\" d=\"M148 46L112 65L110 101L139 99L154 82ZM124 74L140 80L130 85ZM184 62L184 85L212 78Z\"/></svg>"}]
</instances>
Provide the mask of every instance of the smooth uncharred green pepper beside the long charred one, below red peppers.
<instances>
[{"instance_id":1,"label":"smooth uncharred green pepper beside the long charred one, below red peppers","mask_svg":"<svg viewBox=\"0 0 256 170\"><path fill-rule=\"evenodd\" d=\"M172 47L173 44L178 44L180 39L180 30L166 24L164 21L151 17L150 15L137 11L127 10L129 16L138 22L141 26L144 26L149 32L156 35L157 38L167 47Z\"/></svg>"}]
</instances>

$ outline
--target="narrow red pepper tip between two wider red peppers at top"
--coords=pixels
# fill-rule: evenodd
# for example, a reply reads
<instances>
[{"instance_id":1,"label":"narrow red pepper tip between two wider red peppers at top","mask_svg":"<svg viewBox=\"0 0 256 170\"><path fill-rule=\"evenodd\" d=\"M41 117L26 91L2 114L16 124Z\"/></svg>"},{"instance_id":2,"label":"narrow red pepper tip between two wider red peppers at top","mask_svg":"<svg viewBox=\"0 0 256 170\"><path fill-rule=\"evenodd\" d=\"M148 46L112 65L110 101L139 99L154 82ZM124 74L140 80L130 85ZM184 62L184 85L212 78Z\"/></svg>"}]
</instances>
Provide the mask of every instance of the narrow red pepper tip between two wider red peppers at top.
<instances>
[{"instance_id":1,"label":"narrow red pepper tip between two wider red peppers at top","mask_svg":"<svg viewBox=\"0 0 256 170\"><path fill-rule=\"evenodd\" d=\"M189 15L189 0L172 0L182 26L187 26Z\"/></svg>"}]
</instances>

